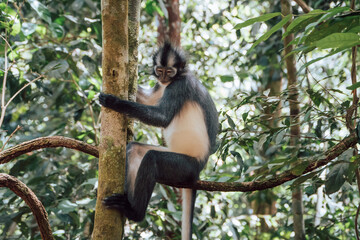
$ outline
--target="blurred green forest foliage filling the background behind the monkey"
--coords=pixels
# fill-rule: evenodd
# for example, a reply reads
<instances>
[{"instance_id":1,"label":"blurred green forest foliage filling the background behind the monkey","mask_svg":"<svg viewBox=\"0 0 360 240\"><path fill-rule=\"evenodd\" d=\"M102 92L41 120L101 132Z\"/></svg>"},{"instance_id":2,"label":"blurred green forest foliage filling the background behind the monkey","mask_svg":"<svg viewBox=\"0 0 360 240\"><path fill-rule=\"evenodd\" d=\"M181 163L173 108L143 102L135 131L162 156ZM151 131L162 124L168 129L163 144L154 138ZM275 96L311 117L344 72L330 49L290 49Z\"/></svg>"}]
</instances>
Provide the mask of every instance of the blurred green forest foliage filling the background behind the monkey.
<instances>
[{"instance_id":1,"label":"blurred green forest foliage filling the background behind the monkey","mask_svg":"<svg viewBox=\"0 0 360 240\"><path fill-rule=\"evenodd\" d=\"M345 115L352 102L351 90L358 87L351 83L350 47L359 44L359 15L347 15L350 1L306 2L318 10L305 16L293 2L295 19L300 19L294 21L297 25L293 24L291 32L296 37L301 107L301 138L294 149L289 144L284 32L277 25L281 15L239 25L280 12L280 1L180 1L182 47L188 52L190 69L213 96L222 126L219 149L201 179L267 179L290 169L297 160L292 157L294 151L298 157L315 156L348 135ZM157 44L157 15L163 16L161 3L141 3L139 83L148 86L155 82L150 76L151 55ZM3 0L0 11L2 83L7 78L1 92L5 90L5 103L19 93L6 107L0 147L53 135L96 144L101 89L100 1ZM271 29L272 35L257 42ZM336 35L337 41L326 39L332 34L341 36ZM275 85L278 92L273 94ZM18 125L21 130L4 146ZM135 129L137 141L161 143L159 130L140 123L135 123ZM349 150L337 160L272 190L247 194L199 191L194 237L291 239L290 189L301 183L307 238L353 239L359 205L354 178L358 159ZM90 238L96 158L69 149L43 149L0 169L18 177L39 197L56 239ZM139 224L128 222L125 239L180 239L178 195L176 189L158 185L146 219ZM0 189L0 238L41 239L29 208L7 189Z\"/></svg>"}]
</instances>

